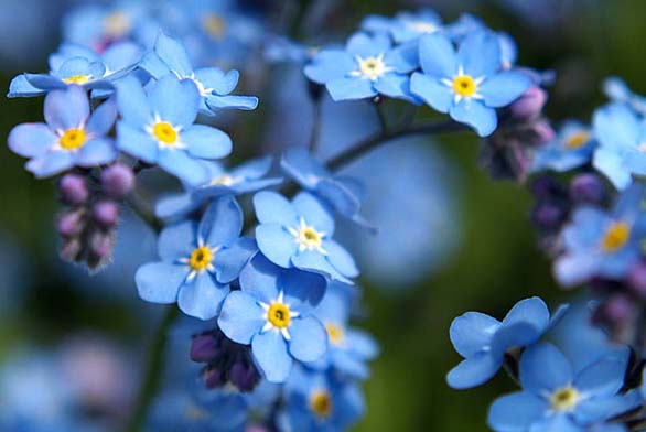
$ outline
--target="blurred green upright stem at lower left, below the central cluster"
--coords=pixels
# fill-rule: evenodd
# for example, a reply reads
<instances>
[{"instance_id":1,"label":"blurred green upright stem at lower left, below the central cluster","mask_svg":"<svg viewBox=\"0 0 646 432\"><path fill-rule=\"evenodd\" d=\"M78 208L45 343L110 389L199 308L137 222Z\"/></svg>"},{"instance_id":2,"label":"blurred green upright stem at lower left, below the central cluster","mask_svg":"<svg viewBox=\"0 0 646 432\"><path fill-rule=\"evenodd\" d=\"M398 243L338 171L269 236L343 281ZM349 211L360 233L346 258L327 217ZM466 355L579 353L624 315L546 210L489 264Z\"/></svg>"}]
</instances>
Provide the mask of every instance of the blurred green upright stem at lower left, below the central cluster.
<instances>
[{"instance_id":1,"label":"blurred green upright stem at lower left, below the central cluster","mask_svg":"<svg viewBox=\"0 0 646 432\"><path fill-rule=\"evenodd\" d=\"M139 397L137 398L137 406L134 407L132 417L126 428L126 432L139 432L142 430L150 403L158 393L160 387L169 328L179 315L179 310L175 305L168 306L164 317L155 330L148 353L146 375L141 382Z\"/></svg>"}]
</instances>

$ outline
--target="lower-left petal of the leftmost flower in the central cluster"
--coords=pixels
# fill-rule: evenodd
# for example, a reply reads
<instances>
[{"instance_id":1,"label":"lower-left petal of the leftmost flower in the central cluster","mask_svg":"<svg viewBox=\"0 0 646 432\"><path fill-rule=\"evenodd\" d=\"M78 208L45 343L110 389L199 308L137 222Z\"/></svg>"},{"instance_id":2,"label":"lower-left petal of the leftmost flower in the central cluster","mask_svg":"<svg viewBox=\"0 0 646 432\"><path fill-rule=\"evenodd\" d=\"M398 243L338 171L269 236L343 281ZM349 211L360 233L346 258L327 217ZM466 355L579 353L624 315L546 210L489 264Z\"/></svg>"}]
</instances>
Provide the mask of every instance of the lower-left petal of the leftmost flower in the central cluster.
<instances>
[{"instance_id":1,"label":"lower-left petal of the leftmost flower in the central cluster","mask_svg":"<svg viewBox=\"0 0 646 432\"><path fill-rule=\"evenodd\" d=\"M177 292L189 276L185 266L151 262L137 270L134 281L139 296L147 302L171 304L177 300Z\"/></svg>"}]
</instances>

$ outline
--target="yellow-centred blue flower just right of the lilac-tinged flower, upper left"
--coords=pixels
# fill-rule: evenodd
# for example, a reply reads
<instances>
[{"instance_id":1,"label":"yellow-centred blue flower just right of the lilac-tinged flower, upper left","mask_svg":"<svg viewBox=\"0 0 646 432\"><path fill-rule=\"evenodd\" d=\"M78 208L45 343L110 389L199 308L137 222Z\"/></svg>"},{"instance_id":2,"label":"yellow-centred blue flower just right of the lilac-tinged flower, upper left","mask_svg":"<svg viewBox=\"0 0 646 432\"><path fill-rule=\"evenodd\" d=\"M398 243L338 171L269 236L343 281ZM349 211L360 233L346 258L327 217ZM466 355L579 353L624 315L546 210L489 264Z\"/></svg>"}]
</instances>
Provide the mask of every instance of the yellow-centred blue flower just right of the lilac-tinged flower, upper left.
<instances>
[{"instance_id":1,"label":"yellow-centred blue flower just right of the lilac-tinged flower, upper left","mask_svg":"<svg viewBox=\"0 0 646 432\"><path fill-rule=\"evenodd\" d=\"M122 117L117 125L117 145L126 153L198 185L207 175L198 160L232 152L232 140L225 132L193 125L200 107L193 82L166 76L144 91L137 79L126 77L116 87Z\"/></svg>"}]
</instances>

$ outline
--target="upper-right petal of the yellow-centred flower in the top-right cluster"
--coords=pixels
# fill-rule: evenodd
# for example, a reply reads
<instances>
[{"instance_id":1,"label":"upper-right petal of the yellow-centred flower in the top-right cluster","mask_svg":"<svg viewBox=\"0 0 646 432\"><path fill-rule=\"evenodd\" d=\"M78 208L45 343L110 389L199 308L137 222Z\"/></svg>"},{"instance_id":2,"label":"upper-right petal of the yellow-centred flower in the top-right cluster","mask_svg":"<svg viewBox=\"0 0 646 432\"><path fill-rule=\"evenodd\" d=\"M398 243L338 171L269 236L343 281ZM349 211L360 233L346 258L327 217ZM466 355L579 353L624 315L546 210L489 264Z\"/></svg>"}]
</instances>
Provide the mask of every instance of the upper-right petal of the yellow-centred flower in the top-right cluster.
<instances>
[{"instance_id":1,"label":"upper-right petal of the yellow-centred flower in the top-right cluster","mask_svg":"<svg viewBox=\"0 0 646 432\"><path fill-rule=\"evenodd\" d=\"M500 67L500 45L496 34L478 31L467 35L457 50L457 62L473 78L495 74Z\"/></svg>"}]
</instances>

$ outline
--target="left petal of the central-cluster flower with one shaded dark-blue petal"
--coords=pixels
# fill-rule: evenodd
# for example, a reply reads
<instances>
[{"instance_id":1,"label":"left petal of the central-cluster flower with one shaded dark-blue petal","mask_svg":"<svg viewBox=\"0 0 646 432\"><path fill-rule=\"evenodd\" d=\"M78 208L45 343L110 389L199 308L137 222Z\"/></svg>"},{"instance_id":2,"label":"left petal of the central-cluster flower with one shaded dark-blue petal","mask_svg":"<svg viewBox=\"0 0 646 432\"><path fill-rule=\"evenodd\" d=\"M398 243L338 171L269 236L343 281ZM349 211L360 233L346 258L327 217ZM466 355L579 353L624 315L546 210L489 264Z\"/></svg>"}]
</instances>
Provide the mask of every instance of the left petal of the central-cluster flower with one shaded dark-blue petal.
<instances>
[{"instance_id":1,"label":"left petal of the central-cluster flower with one shaded dark-blue petal","mask_svg":"<svg viewBox=\"0 0 646 432\"><path fill-rule=\"evenodd\" d=\"M229 339L249 345L265 325L263 314L255 296L233 291L224 301L217 325Z\"/></svg>"}]
</instances>

